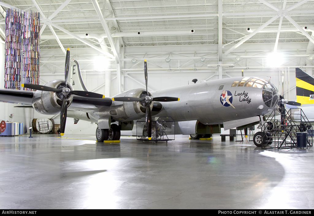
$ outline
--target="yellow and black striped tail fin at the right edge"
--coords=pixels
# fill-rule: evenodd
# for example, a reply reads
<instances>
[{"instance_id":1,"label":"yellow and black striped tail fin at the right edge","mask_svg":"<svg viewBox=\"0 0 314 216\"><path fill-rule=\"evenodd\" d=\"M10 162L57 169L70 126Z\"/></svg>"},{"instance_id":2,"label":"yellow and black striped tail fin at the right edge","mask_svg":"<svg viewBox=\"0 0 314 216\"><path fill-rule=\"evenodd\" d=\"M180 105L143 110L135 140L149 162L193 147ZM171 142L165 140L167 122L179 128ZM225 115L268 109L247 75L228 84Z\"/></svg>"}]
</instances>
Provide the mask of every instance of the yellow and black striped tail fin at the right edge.
<instances>
[{"instance_id":1,"label":"yellow and black striped tail fin at the right edge","mask_svg":"<svg viewBox=\"0 0 314 216\"><path fill-rule=\"evenodd\" d=\"M295 68L296 101L302 104L314 103L314 78Z\"/></svg>"}]
</instances>

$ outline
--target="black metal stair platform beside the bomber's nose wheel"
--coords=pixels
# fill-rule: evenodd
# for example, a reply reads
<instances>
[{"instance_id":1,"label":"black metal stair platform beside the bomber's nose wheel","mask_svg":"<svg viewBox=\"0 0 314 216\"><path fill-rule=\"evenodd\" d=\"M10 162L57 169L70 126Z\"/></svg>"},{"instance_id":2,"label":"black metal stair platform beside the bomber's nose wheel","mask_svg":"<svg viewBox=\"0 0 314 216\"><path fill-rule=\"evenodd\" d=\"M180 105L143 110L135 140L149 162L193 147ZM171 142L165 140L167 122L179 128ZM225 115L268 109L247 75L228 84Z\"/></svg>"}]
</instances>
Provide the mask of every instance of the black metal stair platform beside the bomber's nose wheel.
<instances>
[{"instance_id":1,"label":"black metal stair platform beside the bomber's nose wheel","mask_svg":"<svg viewBox=\"0 0 314 216\"><path fill-rule=\"evenodd\" d=\"M293 111L293 112L292 112ZM300 111L300 112L298 112ZM262 149L291 149L297 145L297 133L304 133L311 129L311 124L300 108L289 109L285 115L279 114L284 120L276 119L280 109L274 109L264 123ZM277 117L278 118L278 117ZM313 138L306 134L306 144L302 147L313 146Z\"/></svg>"}]
</instances>

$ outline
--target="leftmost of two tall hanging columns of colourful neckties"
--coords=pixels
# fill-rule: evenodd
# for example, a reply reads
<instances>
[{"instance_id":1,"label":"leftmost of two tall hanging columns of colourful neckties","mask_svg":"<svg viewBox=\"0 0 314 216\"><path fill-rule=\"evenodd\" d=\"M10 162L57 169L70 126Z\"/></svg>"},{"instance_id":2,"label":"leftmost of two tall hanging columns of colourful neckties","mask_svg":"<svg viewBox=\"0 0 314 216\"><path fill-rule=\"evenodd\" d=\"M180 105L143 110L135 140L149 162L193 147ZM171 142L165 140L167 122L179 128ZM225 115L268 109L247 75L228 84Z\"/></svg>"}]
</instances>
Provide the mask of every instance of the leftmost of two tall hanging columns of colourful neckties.
<instances>
[{"instance_id":1,"label":"leftmost of two tall hanging columns of colourful neckties","mask_svg":"<svg viewBox=\"0 0 314 216\"><path fill-rule=\"evenodd\" d=\"M4 88L21 89L22 10L9 8L5 17Z\"/></svg>"}]
</instances>

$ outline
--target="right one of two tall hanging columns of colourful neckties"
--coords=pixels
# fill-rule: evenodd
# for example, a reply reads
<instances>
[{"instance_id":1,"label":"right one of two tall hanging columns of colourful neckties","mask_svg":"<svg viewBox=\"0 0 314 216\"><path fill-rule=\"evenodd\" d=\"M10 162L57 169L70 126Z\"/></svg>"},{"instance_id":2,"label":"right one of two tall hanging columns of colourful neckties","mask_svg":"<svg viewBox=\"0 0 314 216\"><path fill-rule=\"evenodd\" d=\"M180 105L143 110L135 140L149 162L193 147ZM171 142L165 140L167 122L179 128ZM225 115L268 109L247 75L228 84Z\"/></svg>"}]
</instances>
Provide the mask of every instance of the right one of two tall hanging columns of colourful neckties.
<instances>
[{"instance_id":1,"label":"right one of two tall hanging columns of colourful neckties","mask_svg":"<svg viewBox=\"0 0 314 216\"><path fill-rule=\"evenodd\" d=\"M39 84L40 13L25 11L23 19L22 83ZM24 88L24 90L33 89Z\"/></svg>"}]
</instances>

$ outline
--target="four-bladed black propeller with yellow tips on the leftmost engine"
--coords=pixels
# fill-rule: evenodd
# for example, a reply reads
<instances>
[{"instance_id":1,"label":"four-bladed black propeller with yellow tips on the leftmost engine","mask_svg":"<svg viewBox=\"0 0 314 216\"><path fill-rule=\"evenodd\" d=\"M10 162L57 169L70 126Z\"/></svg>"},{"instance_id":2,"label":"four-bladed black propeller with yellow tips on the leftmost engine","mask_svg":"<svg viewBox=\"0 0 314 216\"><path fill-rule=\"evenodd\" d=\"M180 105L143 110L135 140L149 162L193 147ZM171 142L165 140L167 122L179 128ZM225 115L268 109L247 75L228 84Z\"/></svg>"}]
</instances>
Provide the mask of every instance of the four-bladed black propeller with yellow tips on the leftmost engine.
<instances>
[{"instance_id":1,"label":"four-bladed black propeller with yellow tips on the leftmost engine","mask_svg":"<svg viewBox=\"0 0 314 216\"><path fill-rule=\"evenodd\" d=\"M69 94L74 94L82 97L94 97L94 98L104 98L105 95L94 93L94 92L85 92L85 91L71 91L70 88L68 88L68 74L69 74L69 66L70 66L70 48L67 49L67 55L65 59L65 87L63 88L52 88L48 86L41 86L41 85L34 85L34 84L22 84L22 87L25 88L31 88L35 90L41 90L41 91L48 91L48 92L62 92L63 98L62 98L62 105L61 105L61 112L60 112L60 134L61 136L64 135L65 131L65 124L67 119L67 96Z\"/></svg>"}]
</instances>

